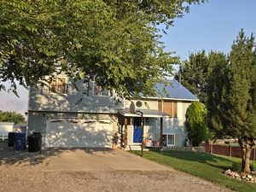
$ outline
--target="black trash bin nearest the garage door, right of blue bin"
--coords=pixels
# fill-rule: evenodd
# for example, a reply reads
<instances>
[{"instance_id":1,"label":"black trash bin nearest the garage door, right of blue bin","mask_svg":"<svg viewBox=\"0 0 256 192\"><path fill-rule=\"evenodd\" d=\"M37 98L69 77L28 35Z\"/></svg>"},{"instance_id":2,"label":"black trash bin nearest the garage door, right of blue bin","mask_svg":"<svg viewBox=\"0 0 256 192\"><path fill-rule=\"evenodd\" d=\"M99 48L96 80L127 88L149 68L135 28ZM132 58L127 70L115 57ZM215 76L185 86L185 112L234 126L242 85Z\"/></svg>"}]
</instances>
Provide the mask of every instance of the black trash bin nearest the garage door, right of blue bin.
<instances>
[{"instance_id":1,"label":"black trash bin nearest the garage door, right of blue bin","mask_svg":"<svg viewBox=\"0 0 256 192\"><path fill-rule=\"evenodd\" d=\"M40 132L33 132L32 135L27 137L28 152L41 151L42 135Z\"/></svg>"}]
</instances>

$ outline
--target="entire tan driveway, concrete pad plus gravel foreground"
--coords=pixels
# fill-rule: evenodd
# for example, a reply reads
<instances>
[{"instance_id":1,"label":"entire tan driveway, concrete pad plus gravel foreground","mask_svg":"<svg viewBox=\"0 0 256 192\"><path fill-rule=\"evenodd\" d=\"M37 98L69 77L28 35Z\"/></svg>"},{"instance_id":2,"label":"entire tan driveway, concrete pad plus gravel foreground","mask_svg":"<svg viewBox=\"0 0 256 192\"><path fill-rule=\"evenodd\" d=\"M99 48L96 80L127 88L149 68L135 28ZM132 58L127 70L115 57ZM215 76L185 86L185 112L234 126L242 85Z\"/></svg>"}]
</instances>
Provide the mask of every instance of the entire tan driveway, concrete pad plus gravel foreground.
<instances>
[{"instance_id":1,"label":"entire tan driveway, concrete pad plus gravel foreground","mask_svg":"<svg viewBox=\"0 0 256 192\"><path fill-rule=\"evenodd\" d=\"M0 192L224 192L223 186L116 150L0 151Z\"/></svg>"}]
</instances>

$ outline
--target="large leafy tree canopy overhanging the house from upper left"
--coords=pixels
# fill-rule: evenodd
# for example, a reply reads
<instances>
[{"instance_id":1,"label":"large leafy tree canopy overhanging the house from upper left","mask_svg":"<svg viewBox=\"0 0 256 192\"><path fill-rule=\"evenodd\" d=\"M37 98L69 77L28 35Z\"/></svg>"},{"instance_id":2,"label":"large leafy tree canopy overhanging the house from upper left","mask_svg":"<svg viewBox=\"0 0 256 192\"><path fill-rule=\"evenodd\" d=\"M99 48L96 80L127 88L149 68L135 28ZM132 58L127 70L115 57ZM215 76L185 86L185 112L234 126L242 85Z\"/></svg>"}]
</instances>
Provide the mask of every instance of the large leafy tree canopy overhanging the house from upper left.
<instances>
[{"instance_id":1,"label":"large leafy tree canopy overhanging the house from upper left","mask_svg":"<svg viewBox=\"0 0 256 192\"><path fill-rule=\"evenodd\" d=\"M170 75L177 58L159 42L157 25L172 26L203 0L1 0L0 89L33 85L53 73L96 75L119 96L145 95Z\"/></svg>"}]
</instances>

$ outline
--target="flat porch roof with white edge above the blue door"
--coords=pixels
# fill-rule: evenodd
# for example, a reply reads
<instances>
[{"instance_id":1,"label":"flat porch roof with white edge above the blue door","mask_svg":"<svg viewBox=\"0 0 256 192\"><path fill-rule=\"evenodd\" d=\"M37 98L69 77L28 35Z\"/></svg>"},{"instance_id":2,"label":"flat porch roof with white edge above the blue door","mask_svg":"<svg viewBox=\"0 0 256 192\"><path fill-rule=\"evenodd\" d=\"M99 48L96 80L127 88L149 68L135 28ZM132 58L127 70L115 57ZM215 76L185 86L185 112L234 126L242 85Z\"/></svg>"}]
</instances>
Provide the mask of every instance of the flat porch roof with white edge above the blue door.
<instances>
[{"instance_id":1,"label":"flat porch roof with white edge above the blue door","mask_svg":"<svg viewBox=\"0 0 256 192\"><path fill-rule=\"evenodd\" d=\"M151 118L161 118L161 117L169 116L166 113L163 113L154 109L139 109L135 113L131 113L130 109L126 108L126 109L121 109L118 112L125 117L142 117L142 113L143 113L143 117L151 117Z\"/></svg>"}]
</instances>

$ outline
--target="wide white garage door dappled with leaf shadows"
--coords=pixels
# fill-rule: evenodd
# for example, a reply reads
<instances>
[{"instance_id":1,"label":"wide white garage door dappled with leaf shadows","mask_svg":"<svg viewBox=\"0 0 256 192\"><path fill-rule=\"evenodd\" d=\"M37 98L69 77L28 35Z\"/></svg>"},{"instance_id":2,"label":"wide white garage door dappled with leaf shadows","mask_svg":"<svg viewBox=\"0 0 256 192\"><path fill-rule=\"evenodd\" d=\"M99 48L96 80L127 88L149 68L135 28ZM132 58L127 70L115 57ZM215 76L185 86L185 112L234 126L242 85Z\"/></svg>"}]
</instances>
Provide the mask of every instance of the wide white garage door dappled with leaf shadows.
<instances>
[{"instance_id":1,"label":"wide white garage door dappled with leaf shadows","mask_svg":"<svg viewBox=\"0 0 256 192\"><path fill-rule=\"evenodd\" d=\"M45 144L49 148L111 147L112 135L109 119L50 119Z\"/></svg>"}]
</instances>

